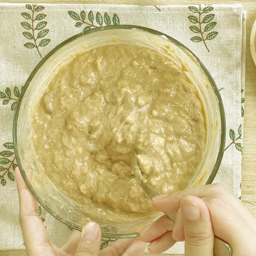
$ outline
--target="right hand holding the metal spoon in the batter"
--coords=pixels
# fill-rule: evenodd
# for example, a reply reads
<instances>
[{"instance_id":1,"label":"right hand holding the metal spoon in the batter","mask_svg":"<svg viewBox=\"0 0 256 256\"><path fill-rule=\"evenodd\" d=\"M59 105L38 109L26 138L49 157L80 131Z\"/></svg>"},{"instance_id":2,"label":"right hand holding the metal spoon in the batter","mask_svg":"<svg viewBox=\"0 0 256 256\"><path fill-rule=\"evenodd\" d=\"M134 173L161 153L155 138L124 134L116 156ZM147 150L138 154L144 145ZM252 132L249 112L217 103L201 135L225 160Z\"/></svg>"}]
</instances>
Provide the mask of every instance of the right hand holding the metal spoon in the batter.
<instances>
[{"instance_id":1,"label":"right hand holding the metal spoon in the batter","mask_svg":"<svg viewBox=\"0 0 256 256\"><path fill-rule=\"evenodd\" d=\"M161 253L185 240L186 256L212 256L213 234L228 242L233 256L255 255L256 219L221 184L188 188L152 199L162 212L177 212L175 224L166 216L141 231L151 253Z\"/></svg>"}]
</instances>

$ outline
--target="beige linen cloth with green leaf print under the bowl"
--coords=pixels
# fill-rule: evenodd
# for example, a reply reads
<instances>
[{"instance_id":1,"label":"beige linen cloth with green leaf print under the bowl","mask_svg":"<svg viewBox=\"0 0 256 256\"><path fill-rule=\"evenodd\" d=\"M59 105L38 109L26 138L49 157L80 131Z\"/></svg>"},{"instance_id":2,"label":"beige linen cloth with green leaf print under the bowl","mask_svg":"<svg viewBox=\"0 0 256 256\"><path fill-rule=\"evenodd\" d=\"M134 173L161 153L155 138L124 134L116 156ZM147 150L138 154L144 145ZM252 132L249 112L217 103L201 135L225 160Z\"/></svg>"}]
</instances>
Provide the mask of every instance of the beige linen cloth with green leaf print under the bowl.
<instances>
[{"instance_id":1,"label":"beige linen cloth with green leaf print under the bowl","mask_svg":"<svg viewBox=\"0 0 256 256\"><path fill-rule=\"evenodd\" d=\"M135 6L97 4L0 4L0 249L24 248L13 168L12 119L22 85L36 64L56 45L92 27L133 24L179 40L204 63L224 103L227 133L223 160L214 182L240 196L245 75L243 6ZM32 19L33 24L32 24ZM242 110L242 111L241 111ZM58 246L69 228L40 208ZM102 247L108 244L107 241ZM168 253L183 253L176 244Z\"/></svg>"}]
</instances>

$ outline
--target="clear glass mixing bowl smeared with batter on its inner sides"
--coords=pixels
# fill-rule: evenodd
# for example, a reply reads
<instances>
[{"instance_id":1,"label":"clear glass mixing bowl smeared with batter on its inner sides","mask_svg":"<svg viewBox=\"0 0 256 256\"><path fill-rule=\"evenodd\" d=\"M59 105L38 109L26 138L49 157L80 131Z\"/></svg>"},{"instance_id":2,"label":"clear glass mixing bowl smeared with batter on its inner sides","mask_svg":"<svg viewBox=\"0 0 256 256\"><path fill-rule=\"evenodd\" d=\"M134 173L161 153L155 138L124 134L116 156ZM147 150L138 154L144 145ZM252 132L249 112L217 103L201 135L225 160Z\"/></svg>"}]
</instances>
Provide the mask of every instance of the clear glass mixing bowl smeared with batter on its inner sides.
<instances>
[{"instance_id":1,"label":"clear glass mixing bowl smeared with batter on its inner sides","mask_svg":"<svg viewBox=\"0 0 256 256\"><path fill-rule=\"evenodd\" d=\"M54 217L68 226L82 230L89 220L102 228L102 236L127 238L138 236L141 228L159 215L138 217L130 221L104 219L84 212L83 208L61 194L48 179L44 169L36 161L30 130L30 109L42 96L54 76L55 67L70 61L79 51L105 44L139 44L168 54L187 73L197 86L205 112L206 144L201 166L188 187L212 183L223 156L225 146L225 113L220 93L212 76L200 60L183 44L153 29L118 25L93 28L72 36L56 46L41 60L28 77L18 100L13 121L14 151L21 175L37 201Z\"/></svg>"}]
</instances>

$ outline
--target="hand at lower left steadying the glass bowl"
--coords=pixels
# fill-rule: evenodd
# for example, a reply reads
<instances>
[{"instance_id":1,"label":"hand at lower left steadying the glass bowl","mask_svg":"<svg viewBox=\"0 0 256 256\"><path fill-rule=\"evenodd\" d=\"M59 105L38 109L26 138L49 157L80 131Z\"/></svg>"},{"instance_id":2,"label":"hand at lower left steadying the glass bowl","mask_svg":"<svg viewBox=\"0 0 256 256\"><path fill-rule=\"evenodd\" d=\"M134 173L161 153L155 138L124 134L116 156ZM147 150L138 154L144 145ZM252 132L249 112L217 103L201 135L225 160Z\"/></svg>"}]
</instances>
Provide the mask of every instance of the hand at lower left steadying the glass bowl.
<instances>
[{"instance_id":1,"label":"hand at lower left steadying the glass bowl","mask_svg":"<svg viewBox=\"0 0 256 256\"><path fill-rule=\"evenodd\" d=\"M28 256L140 256L146 244L140 238L120 239L100 251L101 230L94 223L87 223L82 231L73 230L61 248L57 248L47 234L38 214L36 199L28 190L18 167L15 169L19 200L20 226Z\"/></svg>"}]
</instances>

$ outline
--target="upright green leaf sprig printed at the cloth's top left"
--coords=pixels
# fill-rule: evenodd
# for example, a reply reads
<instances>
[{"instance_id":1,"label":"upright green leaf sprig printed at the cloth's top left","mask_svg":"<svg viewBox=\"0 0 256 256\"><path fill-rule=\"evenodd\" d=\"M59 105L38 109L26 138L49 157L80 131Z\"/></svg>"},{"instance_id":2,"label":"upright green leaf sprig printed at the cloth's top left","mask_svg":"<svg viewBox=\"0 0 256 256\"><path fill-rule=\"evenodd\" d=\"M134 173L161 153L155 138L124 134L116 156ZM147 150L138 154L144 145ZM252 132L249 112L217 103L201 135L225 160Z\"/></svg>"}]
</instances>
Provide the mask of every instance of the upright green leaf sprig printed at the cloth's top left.
<instances>
[{"instance_id":1,"label":"upright green leaf sprig printed at the cloth's top left","mask_svg":"<svg viewBox=\"0 0 256 256\"><path fill-rule=\"evenodd\" d=\"M44 6L42 5L37 5L37 4L26 4L25 5L28 10L31 12L22 12L21 16L28 20L28 22L21 22L21 26L27 30L30 31L25 31L23 32L23 36L25 36L27 39L32 40L32 42L27 42L24 44L24 46L27 49L33 49L36 48L38 54L40 55L41 58L42 54L39 50L39 47L44 47L47 44L50 43L51 39L43 39L38 43L38 39L46 36L49 32L49 29L44 29L42 30L46 25L47 21L41 21L46 17L46 14L44 13L39 13L42 10L44 10ZM39 21L39 22L38 22ZM37 23L38 22L38 23ZM6 101L5 101L6 102ZM6 103L7 104L7 103ZM15 109L17 106L17 103L12 105L12 110Z\"/></svg>"}]
</instances>

